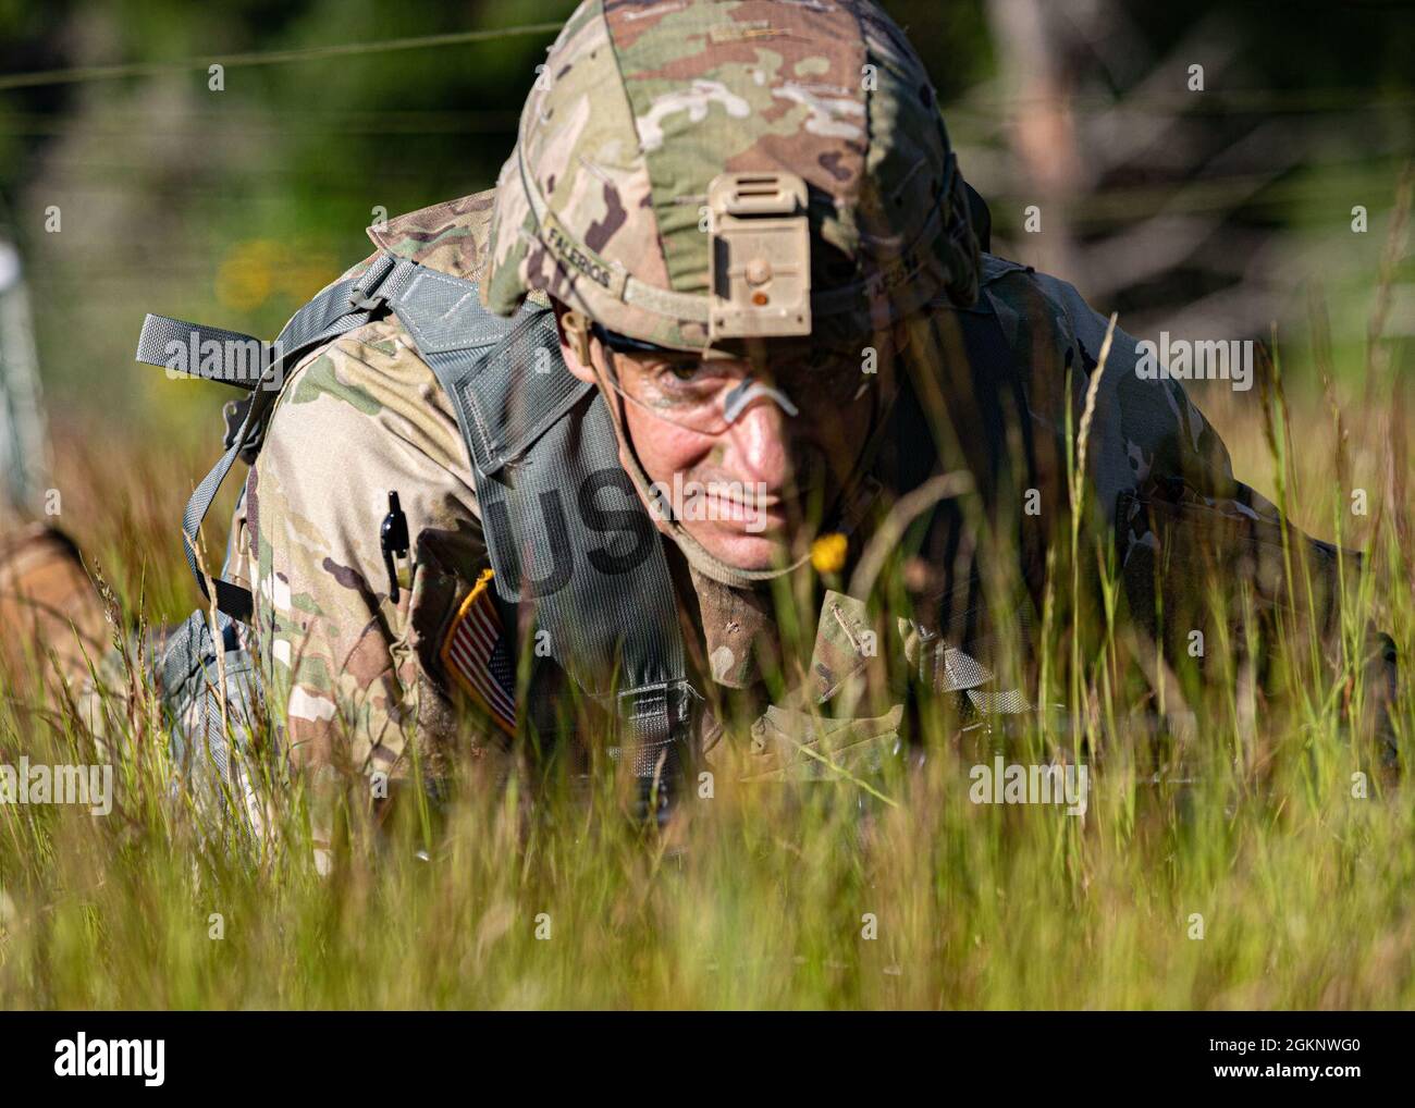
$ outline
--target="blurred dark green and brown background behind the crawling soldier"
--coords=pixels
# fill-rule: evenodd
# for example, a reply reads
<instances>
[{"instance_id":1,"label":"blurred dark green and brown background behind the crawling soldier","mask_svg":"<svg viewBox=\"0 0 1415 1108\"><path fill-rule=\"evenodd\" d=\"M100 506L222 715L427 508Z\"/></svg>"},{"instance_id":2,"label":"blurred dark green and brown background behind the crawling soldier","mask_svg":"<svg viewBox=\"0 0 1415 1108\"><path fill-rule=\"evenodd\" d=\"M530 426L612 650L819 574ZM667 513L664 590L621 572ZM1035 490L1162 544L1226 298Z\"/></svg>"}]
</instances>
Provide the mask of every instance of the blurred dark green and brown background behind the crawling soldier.
<instances>
[{"instance_id":1,"label":"blurred dark green and brown background behind the crawling soldier","mask_svg":"<svg viewBox=\"0 0 1415 1108\"><path fill-rule=\"evenodd\" d=\"M1276 325L1296 378L1324 368L1368 402L1373 318L1398 340L1374 368L1408 368L1415 284L1387 241L1412 150L1409 7L884 7L928 64L964 174L992 207L995 253L1071 280L1139 337L1266 338ZM89 467L115 436L140 437L167 481L173 457L218 453L231 393L136 365L143 314L273 337L369 252L378 208L492 184L555 37L538 25L570 10L0 0L10 480L50 480L24 443L31 378L55 451ZM498 34L467 41L483 31ZM419 38L432 41L399 41ZM1027 205L1040 233L1024 231ZM1201 405L1215 388L1196 386Z\"/></svg>"}]
</instances>

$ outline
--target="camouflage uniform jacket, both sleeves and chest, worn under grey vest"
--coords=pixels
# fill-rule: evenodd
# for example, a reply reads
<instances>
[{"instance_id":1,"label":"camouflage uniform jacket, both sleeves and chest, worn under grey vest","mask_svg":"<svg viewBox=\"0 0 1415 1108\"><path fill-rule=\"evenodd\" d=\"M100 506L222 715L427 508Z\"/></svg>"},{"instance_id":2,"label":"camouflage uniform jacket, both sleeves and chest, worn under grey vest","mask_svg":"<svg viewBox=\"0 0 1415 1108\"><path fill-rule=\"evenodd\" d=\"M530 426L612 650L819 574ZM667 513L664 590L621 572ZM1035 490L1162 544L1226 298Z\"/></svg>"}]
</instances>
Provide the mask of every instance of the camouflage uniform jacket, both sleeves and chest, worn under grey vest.
<instances>
[{"instance_id":1,"label":"camouflage uniform jacket, both sleeves and chest, worn under grey vest","mask_svg":"<svg viewBox=\"0 0 1415 1108\"><path fill-rule=\"evenodd\" d=\"M487 260L490 204L488 194L478 194L403 217L371 235L400 256L477 277ZM1036 434L1029 481L1040 494L1043 512L1023 529L1023 538L1032 533L1036 542L1023 542L1022 573L1029 586L1040 589L1041 559L1029 546L1044 546L1067 518L1067 409L1074 425L1097 368L1097 335L1104 334L1105 321L1074 289L1023 266L983 256L982 273L982 296L972 310L999 320L1007 351L1026 367L1024 405L1012 416ZM976 410L989 400L969 392L966 372L959 374L949 354L957 351L957 311L945 303L917 316L910 323L910 347L916 372L932 375L958 432L957 457L947 458L948 464L979 474L981 500L990 501L989 511L1000 519L1017 505L1003 495L999 477L989 484L989 449L982 439L996 426L1016 430L1017 423L999 425ZM1133 341L1118 337L1097 389L1085 497L1092 505L1087 535L1104 542L1112 542L1116 532L1121 538L1121 565L1136 621L1162 638L1173 637L1155 625L1156 606L1145 587L1155 584L1155 553L1179 541L1199 542L1235 589L1251 586L1259 607L1278 606L1285 580L1272 579L1271 559L1255 558L1255 535L1245 528L1255 519L1279 525L1279 514L1232 478L1221 440L1182 383L1140 379L1133 372L1135 357ZM1142 526L1139 512L1152 511L1149 505L1173 487L1187 490L1210 518L1228 526L1180 531L1177 538ZM389 600L378 546L389 490L399 491L413 536L410 575L396 604ZM454 692L439 658L450 620L488 565L471 468L447 396L396 318L350 333L296 368L250 474L248 501L256 652L266 665L275 717L287 730L296 761L402 777L410 773L415 756L423 773L436 775L468 743L497 756L501 739L495 726ZM873 522L850 539L843 579L891 502L893 491L884 487ZM1186 539L1190 533L1197 538ZM1330 548L1313 543L1310 549ZM1322 560L1316 567L1330 569L1330 563ZM693 582L699 589L703 584L696 577ZM1194 575L1173 572L1160 575L1159 582L1166 613L1187 613L1200 596L1207 604L1208 584ZM1330 573L1327 582L1334 587ZM744 608L720 610L695 603L706 593L696 599L692 590L681 593L689 618L702 620L702 641L691 650L695 685L710 692L724 682L761 698L751 730L753 750L761 760L747 775L812 777L824 763L804 753L807 747L832 758L829 751L838 751L838 764L859 768L897 743L900 716L894 706L860 692L872 668L860 664L866 624L876 628L882 655L913 651L914 668L927 683L966 688L985 705L1003 705L1013 696L1024 703L1027 698L1012 682L982 666L986 679L959 683L945 678L945 665L918 659L921 613L931 624L932 645L940 648L930 659L944 658L944 647L978 650L982 634L971 623L975 606L962 604L949 614L940 604L940 596L952 594L961 583L918 590L911 620L894 623L883 616L867 620L859 599L825 593L815 651L802 671L805 681L778 705L764 696L758 654L739 651L727 666L732 672L717 672L713 655L723 644L737 645L733 635ZM838 611L832 611L832 601ZM1242 611L1241 606L1234 610ZM1332 627L1320 630L1330 633ZM1170 645L1182 650L1182 642ZM705 730L709 726L705 723Z\"/></svg>"}]
</instances>

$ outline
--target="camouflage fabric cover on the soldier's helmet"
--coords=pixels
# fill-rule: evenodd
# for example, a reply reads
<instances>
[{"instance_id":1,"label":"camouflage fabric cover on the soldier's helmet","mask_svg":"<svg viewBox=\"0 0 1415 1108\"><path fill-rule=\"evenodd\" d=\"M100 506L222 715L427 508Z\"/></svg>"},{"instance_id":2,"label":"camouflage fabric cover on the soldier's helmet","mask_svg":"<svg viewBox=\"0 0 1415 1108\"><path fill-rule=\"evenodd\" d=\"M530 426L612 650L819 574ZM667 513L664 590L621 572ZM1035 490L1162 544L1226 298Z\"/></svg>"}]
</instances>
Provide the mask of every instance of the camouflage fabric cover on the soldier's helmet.
<instances>
[{"instance_id":1,"label":"camouflage fabric cover on the soldier's helmet","mask_svg":"<svg viewBox=\"0 0 1415 1108\"><path fill-rule=\"evenodd\" d=\"M724 174L780 183L768 214L802 232L777 239L799 266L746 270L761 286L747 303L785 293L797 270L809 282L785 330L749 320L734 334L850 338L941 294L976 299L978 243L937 98L880 8L587 0L549 50L497 183L487 307L508 316L543 290L640 341L719 345L732 307L713 275L722 228L733 211L760 214L747 190L732 194L746 208L723 208ZM760 242L764 224L737 224L740 242Z\"/></svg>"}]
</instances>

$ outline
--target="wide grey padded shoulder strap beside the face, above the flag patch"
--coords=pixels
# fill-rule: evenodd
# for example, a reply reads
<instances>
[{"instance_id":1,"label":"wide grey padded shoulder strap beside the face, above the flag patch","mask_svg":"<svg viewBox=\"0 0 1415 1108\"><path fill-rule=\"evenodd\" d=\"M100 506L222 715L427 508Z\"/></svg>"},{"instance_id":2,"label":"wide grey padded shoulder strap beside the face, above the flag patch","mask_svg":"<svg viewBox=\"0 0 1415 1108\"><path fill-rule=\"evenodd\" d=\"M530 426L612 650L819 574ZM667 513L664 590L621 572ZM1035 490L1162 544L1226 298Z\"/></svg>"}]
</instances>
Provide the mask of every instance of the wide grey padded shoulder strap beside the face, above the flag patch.
<instances>
[{"instance_id":1,"label":"wide grey padded shoulder strap beside the face, above the flag patch","mask_svg":"<svg viewBox=\"0 0 1415 1108\"><path fill-rule=\"evenodd\" d=\"M671 778L693 692L664 539L603 398L560 357L553 311L528 303L501 318L474 284L427 269L389 307L453 399L498 597L535 603L553 659L613 698L634 771Z\"/></svg>"}]
</instances>

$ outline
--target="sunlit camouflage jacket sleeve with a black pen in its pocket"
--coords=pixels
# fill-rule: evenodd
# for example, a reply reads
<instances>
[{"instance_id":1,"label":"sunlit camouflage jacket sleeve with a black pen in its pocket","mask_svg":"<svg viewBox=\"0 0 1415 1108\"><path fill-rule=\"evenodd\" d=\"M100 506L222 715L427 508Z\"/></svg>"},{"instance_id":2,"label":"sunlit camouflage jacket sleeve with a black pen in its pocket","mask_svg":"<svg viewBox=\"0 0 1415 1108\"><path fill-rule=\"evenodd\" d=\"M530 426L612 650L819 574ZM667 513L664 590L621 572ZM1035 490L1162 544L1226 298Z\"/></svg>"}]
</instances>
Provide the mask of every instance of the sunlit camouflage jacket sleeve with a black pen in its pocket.
<instances>
[{"instance_id":1,"label":"sunlit camouflage jacket sleeve with a black pen in its pocket","mask_svg":"<svg viewBox=\"0 0 1415 1108\"><path fill-rule=\"evenodd\" d=\"M484 192L369 236L475 277L490 207ZM379 548L389 491L412 536L396 604ZM453 709L437 658L488 565L471 464L450 399L396 317L350 331L287 376L246 509L256 654L297 766L399 778L416 756L436 777L456 739L487 746L494 727Z\"/></svg>"}]
</instances>

